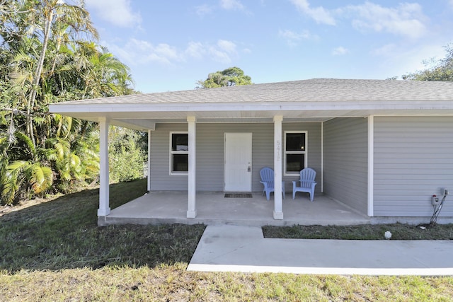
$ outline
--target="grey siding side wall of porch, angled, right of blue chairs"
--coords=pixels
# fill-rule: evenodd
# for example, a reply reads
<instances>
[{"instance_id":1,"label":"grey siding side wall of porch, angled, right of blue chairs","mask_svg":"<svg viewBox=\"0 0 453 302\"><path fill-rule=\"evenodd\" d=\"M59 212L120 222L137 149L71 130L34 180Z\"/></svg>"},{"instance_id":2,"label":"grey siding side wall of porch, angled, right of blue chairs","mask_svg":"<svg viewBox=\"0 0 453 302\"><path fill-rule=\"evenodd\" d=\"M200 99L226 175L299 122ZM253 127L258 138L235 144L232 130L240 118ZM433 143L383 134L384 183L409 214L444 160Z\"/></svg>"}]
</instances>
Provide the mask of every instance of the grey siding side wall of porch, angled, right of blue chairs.
<instances>
[{"instance_id":1,"label":"grey siding side wall of porch, angled, right of blue chairs","mask_svg":"<svg viewBox=\"0 0 453 302\"><path fill-rule=\"evenodd\" d=\"M367 119L336 118L324 122L324 192L367 214Z\"/></svg>"}]
</instances>

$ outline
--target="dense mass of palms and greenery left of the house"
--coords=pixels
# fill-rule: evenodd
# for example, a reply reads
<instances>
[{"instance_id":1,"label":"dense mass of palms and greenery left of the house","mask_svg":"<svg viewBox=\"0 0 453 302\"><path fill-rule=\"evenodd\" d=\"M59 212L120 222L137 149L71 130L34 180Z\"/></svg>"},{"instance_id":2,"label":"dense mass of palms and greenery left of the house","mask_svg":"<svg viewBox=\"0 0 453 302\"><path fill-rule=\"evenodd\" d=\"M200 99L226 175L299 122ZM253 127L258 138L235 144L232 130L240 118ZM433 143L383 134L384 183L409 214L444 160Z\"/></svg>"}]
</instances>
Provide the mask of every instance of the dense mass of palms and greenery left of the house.
<instances>
[{"instance_id":1,"label":"dense mass of palms and greenery left of the house","mask_svg":"<svg viewBox=\"0 0 453 302\"><path fill-rule=\"evenodd\" d=\"M0 1L1 203L96 180L97 125L49 103L133 93L83 0Z\"/></svg>"}]
</instances>

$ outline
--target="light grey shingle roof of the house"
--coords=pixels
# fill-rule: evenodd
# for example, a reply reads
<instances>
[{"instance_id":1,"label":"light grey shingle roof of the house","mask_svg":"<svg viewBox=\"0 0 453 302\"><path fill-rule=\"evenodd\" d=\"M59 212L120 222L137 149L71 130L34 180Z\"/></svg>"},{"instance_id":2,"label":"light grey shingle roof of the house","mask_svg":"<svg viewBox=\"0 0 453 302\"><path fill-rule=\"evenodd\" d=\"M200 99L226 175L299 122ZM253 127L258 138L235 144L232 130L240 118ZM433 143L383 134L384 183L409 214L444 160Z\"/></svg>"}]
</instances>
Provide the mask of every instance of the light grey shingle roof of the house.
<instances>
[{"instance_id":1,"label":"light grey shingle roof of the house","mask_svg":"<svg viewBox=\"0 0 453 302\"><path fill-rule=\"evenodd\" d=\"M65 104L256 103L386 100L453 100L453 82L311 79L249 86L122 95Z\"/></svg>"}]
</instances>

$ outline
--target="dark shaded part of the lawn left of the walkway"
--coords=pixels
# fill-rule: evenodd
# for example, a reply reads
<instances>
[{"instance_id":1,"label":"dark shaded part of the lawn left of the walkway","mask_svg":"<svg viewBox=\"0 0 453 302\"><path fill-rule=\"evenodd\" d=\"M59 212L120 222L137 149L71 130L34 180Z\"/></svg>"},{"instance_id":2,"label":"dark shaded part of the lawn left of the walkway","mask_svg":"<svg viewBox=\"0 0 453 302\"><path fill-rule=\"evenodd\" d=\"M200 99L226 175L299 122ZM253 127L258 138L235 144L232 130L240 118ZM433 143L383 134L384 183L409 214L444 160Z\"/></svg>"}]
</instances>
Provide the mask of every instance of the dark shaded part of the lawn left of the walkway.
<instances>
[{"instance_id":1,"label":"dark shaded part of the lawn left of the walkway","mask_svg":"<svg viewBox=\"0 0 453 302\"><path fill-rule=\"evenodd\" d=\"M112 208L144 194L146 182L110 186ZM0 269L155 267L188 262L205 226L97 226L98 190L59 197L0 217Z\"/></svg>"}]
</instances>

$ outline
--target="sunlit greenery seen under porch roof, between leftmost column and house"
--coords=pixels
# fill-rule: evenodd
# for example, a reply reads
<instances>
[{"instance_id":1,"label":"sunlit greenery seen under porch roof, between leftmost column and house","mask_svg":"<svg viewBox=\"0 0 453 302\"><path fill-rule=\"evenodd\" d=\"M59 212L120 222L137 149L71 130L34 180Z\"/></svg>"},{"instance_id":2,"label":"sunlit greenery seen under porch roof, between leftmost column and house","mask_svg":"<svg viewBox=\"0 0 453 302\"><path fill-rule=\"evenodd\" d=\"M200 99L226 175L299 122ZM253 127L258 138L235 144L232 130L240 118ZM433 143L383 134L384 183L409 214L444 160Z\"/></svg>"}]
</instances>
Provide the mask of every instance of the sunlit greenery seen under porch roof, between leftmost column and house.
<instances>
[{"instance_id":1,"label":"sunlit greenery seen under porch roof, between leftmost column and house","mask_svg":"<svg viewBox=\"0 0 453 302\"><path fill-rule=\"evenodd\" d=\"M145 153L138 141L143 137L139 132L122 127L110 127L108 158L110 181L123 182L143 178Z\"/></svg>"}]
</instances>

